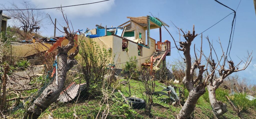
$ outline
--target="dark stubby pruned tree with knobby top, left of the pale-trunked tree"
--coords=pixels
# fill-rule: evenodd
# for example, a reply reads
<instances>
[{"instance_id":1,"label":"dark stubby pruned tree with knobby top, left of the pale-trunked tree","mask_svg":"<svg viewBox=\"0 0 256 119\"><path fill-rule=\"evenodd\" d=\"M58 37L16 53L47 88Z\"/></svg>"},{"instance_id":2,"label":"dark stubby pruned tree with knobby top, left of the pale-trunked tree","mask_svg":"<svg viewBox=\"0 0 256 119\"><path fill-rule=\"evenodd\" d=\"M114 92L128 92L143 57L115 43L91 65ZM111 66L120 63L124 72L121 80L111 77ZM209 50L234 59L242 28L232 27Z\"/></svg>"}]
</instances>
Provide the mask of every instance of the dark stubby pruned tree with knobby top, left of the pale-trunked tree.
<instances>
[{"instance_id":1,"label":"dark stubby pruned tree with knobby top, left of the pale-trunked tree","mask_svg":"<svg viewBox=\"0 0 256 119\"><path fill-rule=\"evenodd\" d=\"M182 29L180 30L182 31ZM198 85L195 86L195 84L198 81L202 81L202 74L205 71L204 69L205 65L200 65L201 55L199 59L196 58L196 61L193 64L191 63L190 46L191 46L191 42L198 35L198 34L195 34L195 26L193 25L192 34L190 34L190 31L188 31L187 34L183 32L183 34L184 34L183 35L184 38L186 39L186 42L179 42L180 47L182 47L182 49L179 48L178 50L183 51L183 54L185 56L186 69L185 69L185 77L183 78L183 84L188 89L189 95L184 106L182 107L179 114L177 115L178 119L188 118L191 115L191 113L195 109L197 100L199 99L200 96L202 96L205 93L205 87L206 87L206 83L199 83ZM201 50L201 54L202 54L202 50ZM192 75L195 73L195 69L197 68L199 69L198 75L195 79L193 79Z\"/></svg>"}]
</instances>

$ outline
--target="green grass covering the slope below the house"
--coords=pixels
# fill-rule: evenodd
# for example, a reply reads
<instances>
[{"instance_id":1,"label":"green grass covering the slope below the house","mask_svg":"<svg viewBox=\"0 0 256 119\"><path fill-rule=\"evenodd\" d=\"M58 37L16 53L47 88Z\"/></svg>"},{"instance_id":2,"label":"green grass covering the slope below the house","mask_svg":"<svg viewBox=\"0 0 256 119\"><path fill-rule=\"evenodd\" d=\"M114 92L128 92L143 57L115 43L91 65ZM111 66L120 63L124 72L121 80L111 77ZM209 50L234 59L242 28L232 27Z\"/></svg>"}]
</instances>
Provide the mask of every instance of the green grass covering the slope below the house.
<instances>
[{"instance_id":1,"label":"green grass covering the slope below the house","mask_svg":"<svg viewBox=\"0 0 256 119\"><path fill-rule=\"evenodd\" d=\"M121 79L121 81L126 81L125 79ZM143 90L141 91L140 89L140 84L141 81L136 81L136 80L131 80L130 85L131 85L131 92L132 96L142 98L142 93ZM126 84L127 85L127 84ZM121 84L120 87L118 88L121 90L121 92L124 94L125 97L129 97L128 94L128 86ZM156 81L156 87L155 91L162 91L163 87L166 87L163 83L159 83ZM182 85L175 84L177 87L183 87ZM117 89L117 90L118 90ZM32 90L34 92L36 90ZM185 96L188 96L188 91L185 89ZM29 92L26 92L29 93ZM222 101L223 103L227 104L228 112L220 116L220 119L239 119L237 116L237 112L233 110L233 107L229 104L225 96L229 96L229 90L218 88L216 90L216 98L218 101ZM117 97L116 101L114 101L115 108L110 110L110 114L112 115L126 115L128 118L149 118L148 116L145 115L144 111L145 109L129 109L127 108L127 104L122 103L123 98L119 95L119 93L115 93L115 96ZM252 114L251 110L256 110L256 100L250 101L245 98L246 95L242 94L236 94L233 96L229 96L231 101L239 107L243 107L243 115L244 118L252 118L252 116L255 116L255 112ZM162 96L161 98L167 98L167 96ZM152 106L151 109L151 114L156 117L162 117L162 118L175 118L175 116L179 113L180 109L182 107L180 106L172 106L171 103L166 103L161 100L159 100L159 97L156 98L154 96L153 98L154 105ZM51 107L53 108L48 108L41 117L44 115L52 113L54 118L73 118L73 113L74 113L74 106L75 103L56 103L52 104ZM106 105L103 105L101 112L105 109ZM99 106L99 100L96 99L90 99L86 101L81 101L77 103L75 111L76 115L78 115L81 118L95 118L98 111L100 110ZM16 113L21 113L23 110L18 110ZM131 114L135 114L135 116L131 116ZM193 112L194 118L214 118L213 112L211 105L209 103L209 96L208 96L208 91L206 89L206 92L204 95L202 95L196 104L195 111ZM109 116L109 118L122 118L122 117L116 117L116 116Z\"/></svg>"}]
</instances>

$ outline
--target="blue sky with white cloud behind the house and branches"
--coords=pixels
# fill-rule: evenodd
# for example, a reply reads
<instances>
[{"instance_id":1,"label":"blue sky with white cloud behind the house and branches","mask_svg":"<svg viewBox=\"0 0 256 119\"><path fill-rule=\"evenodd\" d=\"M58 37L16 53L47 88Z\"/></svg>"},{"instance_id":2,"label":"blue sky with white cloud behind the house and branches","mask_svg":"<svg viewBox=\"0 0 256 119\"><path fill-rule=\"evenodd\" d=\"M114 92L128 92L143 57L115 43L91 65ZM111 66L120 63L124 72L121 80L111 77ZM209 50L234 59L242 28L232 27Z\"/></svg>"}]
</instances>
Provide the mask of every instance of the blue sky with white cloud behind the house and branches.
<instances>
[{"instance_id":1,"label":"blue sky with white cloud behind the house and branches","mask_svg":"<svg viewBox=\"0 0 256 119\"><path fill-rule=\"evenodd\" d=\"M84 4L97 2L100 0L29 0L32 4L35 4L37 8L48 8L57 6L67 6L75 4ZM236 9L240 0L219 0L223 4L229 6L232 9ZM9 2L20 3L20 0L0 0L0 3L9 6ZM18 4L19 5L19 4ZM168 30L172 33L174 38L178 40L179 35L177 29L170 22L173 21L175 25L183 30L192 30L193 24L195 24L196 33L209 28L223 17L230 14L232 11L214 0L197 0L197 1L174 1L174 0L111 0L107 2L83 5L76 7L63 8L71 20L75 30L77 29L90 29L95 28L95 24L107 25L110 27L118 26L129 19L127 16L138 17L151 15L157 16L162 21L167 23L170 27ZM48 13L52 18L57 18L59 23L63 23L61 13L56 9L42 10ZM213 41L218 56L222 55L220 46L217 42L220 38L223 48L226 50L229 41L229 35L231 31L231 22L233 15L228 16L226 19L219 22L217 25L212 27L203 33L203 37L209 36L210 40ZM40 32L46 36L52 36L54 34L53 25L50 24L46 19L44 23L44 29L40 29ZM236 26L234 31L234 38L232 49L230 52L231 59L235 64L240 62L239 58L247 56L247 50L253 51L252 56L255 56L255 27L256 27L256 16L252 0L242 0L239 8L237 9ZM12 25L12 22L9 22ZM59 33L57 33L59 34ZM159 31L157 29L151 30L151 37L159 40ZM173 40L169 36L168 32L162 28L162 40L171 41L171 45L174 46ZM196 37L193 41L193 45L200 47L200 37ZM205 38L203 38L203 50L205 54L209 53L209 45ZM182 55L182 52L180 52ZM171 56L167 57L167 61L172 62L174 58L178 58L178 51L173 48ZM238 58L239 57L239 58ZM256 84L256 57L252 59L251 64L245 71L240 71L238 74L242 77L246 77L249 83Z\"/></svg>"}]
</instances>

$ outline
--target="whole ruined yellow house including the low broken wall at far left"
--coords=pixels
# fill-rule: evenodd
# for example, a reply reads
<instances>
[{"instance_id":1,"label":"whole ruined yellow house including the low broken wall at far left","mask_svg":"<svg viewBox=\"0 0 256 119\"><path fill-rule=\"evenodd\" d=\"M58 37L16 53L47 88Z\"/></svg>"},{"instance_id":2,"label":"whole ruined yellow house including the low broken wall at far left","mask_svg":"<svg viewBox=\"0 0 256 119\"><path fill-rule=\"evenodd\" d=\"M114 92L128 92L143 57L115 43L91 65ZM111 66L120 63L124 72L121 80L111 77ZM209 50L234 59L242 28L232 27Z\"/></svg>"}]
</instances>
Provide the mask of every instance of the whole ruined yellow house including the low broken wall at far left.
<instances>
[{"instance_id":1,"label":"whole ruined yellow house including the low broken wall at far left","mask_svg":"<svg viewBox=\"0 0 256 119\"><path fill-rule=\"evenodd\" d=\"M130 20L117 27L106 28L96 25L96 28L92 30L88 28L84 32L78 30L74 32L77 34L74 39L79 42L82 38L86 38L85 40L92 38L101 48L111 49L113 62L115 63L125 63L129 61L128 56L136 56L139 71L142 66L151 69L157 68L166 56L170 56L170 41L162 41L161 38L161 27L163 25L169 26L158 18L151 16L127 18ZM150 37L151 29L159 29L158 38ZM156 39L159 39L159 41L156 42ZM33 59L31 56L34 56L38 51L52 52L58 46L68 44L68 40L63 36L50 39L32 38L30 43L27 42L29 41L12 43L14 55ZM35 50L35 47L38 49ZM69 53L74 51L75 47ZM118 57L114 57L115 55ZM119 68L121 70L121 67Z\"/></svg>"}]
</instances>

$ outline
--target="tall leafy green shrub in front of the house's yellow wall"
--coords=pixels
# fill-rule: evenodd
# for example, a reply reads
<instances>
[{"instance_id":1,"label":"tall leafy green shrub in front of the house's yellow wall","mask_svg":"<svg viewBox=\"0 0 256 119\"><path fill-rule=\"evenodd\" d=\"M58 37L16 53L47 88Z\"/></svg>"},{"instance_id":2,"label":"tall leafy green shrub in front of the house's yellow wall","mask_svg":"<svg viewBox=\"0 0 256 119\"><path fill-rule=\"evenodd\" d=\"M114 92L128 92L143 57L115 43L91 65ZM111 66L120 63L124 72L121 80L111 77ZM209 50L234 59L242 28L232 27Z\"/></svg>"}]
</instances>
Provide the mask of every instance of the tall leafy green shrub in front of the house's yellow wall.
<instances>
[{"instance_id":1,"label":"tall leafy green shrub in front of the house's yellow wall","mask_svg":"<svg viewBox=\"0 0 256 119\"><path fill-rule=\"evenodd\" d=\"M111 50L101 48L90 38L87 41L81 40L79 54L81 55L81 59L78 59L80 77L81 80L86 81L89 96L101 96L104 76L108 74L107 68L112 59ZM112 83L112 81L107 83Z\"/></svg>"}]
</instances>

